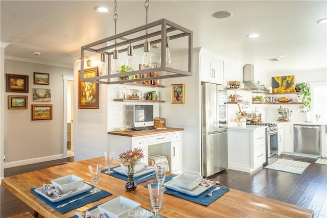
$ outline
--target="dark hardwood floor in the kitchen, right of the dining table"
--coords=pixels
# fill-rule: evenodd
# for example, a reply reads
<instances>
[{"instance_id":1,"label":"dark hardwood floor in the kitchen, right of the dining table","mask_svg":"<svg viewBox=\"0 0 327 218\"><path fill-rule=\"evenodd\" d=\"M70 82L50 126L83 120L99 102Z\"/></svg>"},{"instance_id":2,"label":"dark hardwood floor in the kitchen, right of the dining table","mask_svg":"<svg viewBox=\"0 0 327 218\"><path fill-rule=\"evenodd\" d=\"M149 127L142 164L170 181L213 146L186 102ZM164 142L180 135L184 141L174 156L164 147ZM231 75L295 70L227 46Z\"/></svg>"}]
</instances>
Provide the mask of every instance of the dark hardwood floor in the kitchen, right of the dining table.
<instances>
[{"instance_id":1,"label":"dark hardwood floor in the kitchen, right of the dining table","mask_svg":"<svg viewBox=\"0 0 327 218\"><path fill-rule=\"evenodd\" d=\"M309 208L314 217L327 218L327 165L316 158L281 155L279 158L310 162L301 175L263 168L252 175L227 169L209 178L227 187Z\"/></svg>"}]
</instances>

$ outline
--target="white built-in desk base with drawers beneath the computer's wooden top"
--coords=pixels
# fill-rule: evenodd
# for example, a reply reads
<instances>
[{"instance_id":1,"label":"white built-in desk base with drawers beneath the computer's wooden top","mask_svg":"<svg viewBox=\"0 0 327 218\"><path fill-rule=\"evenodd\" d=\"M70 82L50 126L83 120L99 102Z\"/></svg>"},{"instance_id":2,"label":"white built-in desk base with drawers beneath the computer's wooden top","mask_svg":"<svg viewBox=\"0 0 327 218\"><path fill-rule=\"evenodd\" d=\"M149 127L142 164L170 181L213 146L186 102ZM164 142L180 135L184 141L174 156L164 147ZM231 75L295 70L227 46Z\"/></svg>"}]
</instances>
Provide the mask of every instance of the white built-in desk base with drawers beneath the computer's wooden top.
<instances>
[{"instance_id":1,"label":"white built-in desk base with drawers beneath the computer's wooden top","mask_svg":"<svg viewBox=\"0 0 327 218\"><path fill-rule=\"evenodd\" d=\"M144 153L142 162L148 163L149 154L167 157L170 172L173 174L182 171L182 132L158 133L143 136L122 136L109 134L109 150L114 152L114 158L133 148L141 148Z\"/></svg>"}]
</instances>

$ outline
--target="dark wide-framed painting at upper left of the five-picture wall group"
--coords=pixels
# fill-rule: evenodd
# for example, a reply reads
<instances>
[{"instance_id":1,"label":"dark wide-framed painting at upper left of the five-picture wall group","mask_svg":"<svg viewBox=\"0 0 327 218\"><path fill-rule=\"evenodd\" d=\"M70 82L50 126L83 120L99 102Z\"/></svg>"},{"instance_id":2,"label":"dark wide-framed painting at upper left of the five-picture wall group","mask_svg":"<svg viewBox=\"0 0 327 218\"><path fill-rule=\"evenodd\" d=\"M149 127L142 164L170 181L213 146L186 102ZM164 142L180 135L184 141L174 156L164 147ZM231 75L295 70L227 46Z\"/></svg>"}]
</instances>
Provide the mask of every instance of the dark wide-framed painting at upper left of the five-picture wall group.
<instances>
[{"instance_id":1,"label":"dark wide-framed painting at upper left of the five-picture wall group","mask_svg":"<svg viewBox=\"0 0 327 218\"><path fill-rule=\"evenodd\" d=\"M6 74L6 92L29 92L29 76Z\"/></svg>"}]
</instances>

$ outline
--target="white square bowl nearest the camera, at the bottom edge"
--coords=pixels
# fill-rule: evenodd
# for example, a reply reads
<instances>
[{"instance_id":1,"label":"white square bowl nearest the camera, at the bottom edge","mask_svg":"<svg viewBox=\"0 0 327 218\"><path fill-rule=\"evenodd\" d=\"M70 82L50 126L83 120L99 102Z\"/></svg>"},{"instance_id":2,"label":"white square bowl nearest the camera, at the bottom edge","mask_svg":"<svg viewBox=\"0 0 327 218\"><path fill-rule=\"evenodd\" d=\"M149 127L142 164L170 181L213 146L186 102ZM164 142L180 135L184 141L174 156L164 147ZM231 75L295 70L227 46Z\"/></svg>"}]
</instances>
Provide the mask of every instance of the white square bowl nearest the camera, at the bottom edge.
<instances>
[{"instance_id":1,"label":"white square bowl nearest the camera, at the bottom edge","mask_svg":"<svg viewBox=\"0 0 327 218\"><path fill-rule=\"evenodd\" d=\"M117 197L98 206L102 214L108 217L130 217L139 210L141 204L123 196Z\"/></svg>"}]
</instances>

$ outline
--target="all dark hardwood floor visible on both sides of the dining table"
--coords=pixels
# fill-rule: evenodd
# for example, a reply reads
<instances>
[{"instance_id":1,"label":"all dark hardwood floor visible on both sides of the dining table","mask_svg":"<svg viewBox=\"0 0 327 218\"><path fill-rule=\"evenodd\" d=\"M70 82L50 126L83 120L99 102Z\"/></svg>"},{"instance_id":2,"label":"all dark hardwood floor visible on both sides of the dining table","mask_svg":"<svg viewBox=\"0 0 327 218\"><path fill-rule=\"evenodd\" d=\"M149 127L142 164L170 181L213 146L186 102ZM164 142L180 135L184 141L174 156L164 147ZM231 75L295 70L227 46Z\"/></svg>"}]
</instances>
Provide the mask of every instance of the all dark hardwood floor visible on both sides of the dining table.
<instances>
[{"instance_id":1,"label":"all dark hardwood floor visible on both sides of the dining table","mask_svg":"<svg viewBox=\"0 0 327 218\"><path fill-rule=\"evenodd\" d=\"M315 164L316 159L282 155L280 158L310 162L301 175L265 169L248 174L227 169L210 178L227 187L278 201L295 204L314 211L314 217L327 218L327 165ZM5 177L48 167L73 158L5 169ZM33 210L1 186L1 217Z\"/></svg>"}]
</instances>

